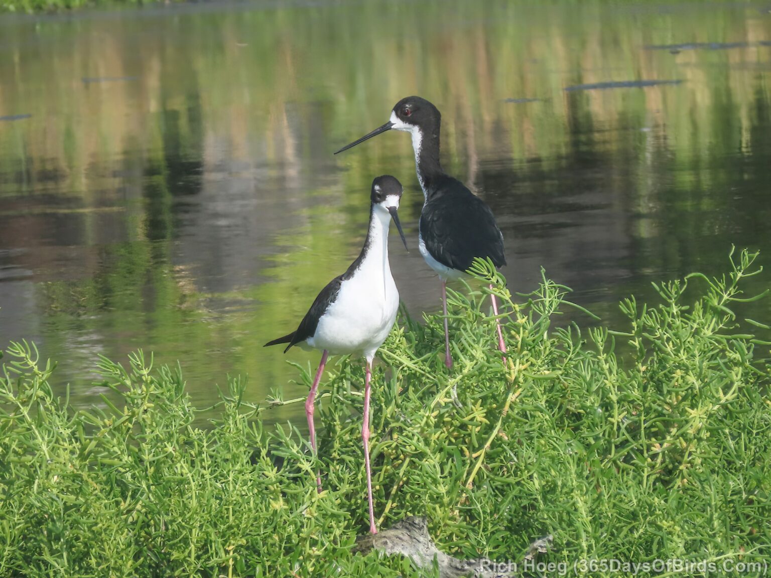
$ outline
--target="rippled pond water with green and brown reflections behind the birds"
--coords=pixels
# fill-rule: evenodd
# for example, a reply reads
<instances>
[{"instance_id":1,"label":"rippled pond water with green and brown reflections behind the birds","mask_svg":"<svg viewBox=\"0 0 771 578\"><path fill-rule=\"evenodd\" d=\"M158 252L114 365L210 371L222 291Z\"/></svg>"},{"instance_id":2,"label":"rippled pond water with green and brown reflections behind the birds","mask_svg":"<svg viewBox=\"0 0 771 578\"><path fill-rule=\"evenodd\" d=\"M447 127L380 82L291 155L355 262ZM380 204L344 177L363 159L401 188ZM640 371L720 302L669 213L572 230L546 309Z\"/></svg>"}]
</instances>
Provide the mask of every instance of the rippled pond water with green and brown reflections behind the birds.
<instances>
[{"instance_id":1,"label":"rippled pond water with green and brown reflections behind the birds","mask_svg":"<svg viewBox=\"0 0 771 578\"><path fill-rule=\"evenodd\" d=\"M76 403L98 402L96 354L136 348L180 360L198 405L227 373L253 401L303 395L286 360L318 354L261 346L358 253L374 176L406 185L402 299L439 308L409 137L332 155L409 94L442 111L445 168L496 213L516 291L543 266L624 328L619 299L725 271L731 244L768 264L771 5L533 4L0 18L0 346L34 340Z\"/></svg>"}]
</instances>

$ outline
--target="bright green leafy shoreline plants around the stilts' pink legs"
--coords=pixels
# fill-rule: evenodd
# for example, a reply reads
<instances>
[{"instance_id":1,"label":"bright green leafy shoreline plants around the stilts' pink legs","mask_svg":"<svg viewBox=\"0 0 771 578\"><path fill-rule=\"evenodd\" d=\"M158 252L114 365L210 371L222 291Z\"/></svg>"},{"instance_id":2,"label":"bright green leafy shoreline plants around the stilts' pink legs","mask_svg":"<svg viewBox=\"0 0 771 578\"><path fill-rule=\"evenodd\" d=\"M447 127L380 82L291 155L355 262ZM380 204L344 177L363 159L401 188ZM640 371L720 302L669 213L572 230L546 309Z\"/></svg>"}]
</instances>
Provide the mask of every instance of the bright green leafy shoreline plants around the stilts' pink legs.
<instances>
[{"instance_id":1,"label":"bright green leafy shoreline plants around the stilts' pink legs","mask_svg":"<svg viewBox=\"0 0 771 578\"><path fill-rule=\"evenodd\" d=\"M372 398L382 526L426 514L439 547L492 560L520 560L547 533L553 562L767 559L771 367L748 329L769 328L732 311L755 298L742 294L755 257L660 284L655 306L624 301L623 332L556 326L565 287L544 277L513 301L478 264L510 315L507 365L487 290L450 294L452 371L441 318L392 332ZM141 353L128 368L99 361L120 402L88 410L54 397L35 348L7 356L0 576L416 575L350 551L367 528L359 360L329 365L317 462L297 429L262 425L264 408L294 400L248 404L237 378L200 428L180 370Z\"/></svg>"}]
</instances>

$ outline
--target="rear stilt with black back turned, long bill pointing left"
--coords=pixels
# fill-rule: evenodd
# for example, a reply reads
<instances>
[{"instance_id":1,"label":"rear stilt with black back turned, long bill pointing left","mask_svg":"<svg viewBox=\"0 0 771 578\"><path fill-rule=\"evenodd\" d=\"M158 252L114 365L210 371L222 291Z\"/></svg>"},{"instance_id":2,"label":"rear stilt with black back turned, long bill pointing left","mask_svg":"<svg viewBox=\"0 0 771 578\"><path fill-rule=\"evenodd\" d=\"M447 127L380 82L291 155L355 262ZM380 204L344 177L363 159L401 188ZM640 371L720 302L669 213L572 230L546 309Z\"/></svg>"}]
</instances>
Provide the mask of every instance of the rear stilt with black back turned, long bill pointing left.
<instances>
[{"instance_id":1,"label":"rear stilt with black back turned, long bill pointing left","mask_svg":"<svg viewBox=\"0 0 771 578\"><path fill-rule=\"evenodd\" d=\"M423 209L418 226L419 250L423 259L442 281L442 311L444 314L445 365L452 368L447 329L447 281L463 277L474 257L489 257L496 267L506 264L503 254L503 234L493 211L466 185L449 176L439 163L439 128L442 115L431 102L419 96L399 100L391 111L389 122L355 140L335 154L342 153L387 130L402 130L412 135L415 165L420 188L423 189ZM490 285L490 289L493 285ZM494 294L493 314L498 315ZM498 348L506 353L503 331L496 321ZM505 365L506 358L503 358Z\"/></svg>"}]
</instances>

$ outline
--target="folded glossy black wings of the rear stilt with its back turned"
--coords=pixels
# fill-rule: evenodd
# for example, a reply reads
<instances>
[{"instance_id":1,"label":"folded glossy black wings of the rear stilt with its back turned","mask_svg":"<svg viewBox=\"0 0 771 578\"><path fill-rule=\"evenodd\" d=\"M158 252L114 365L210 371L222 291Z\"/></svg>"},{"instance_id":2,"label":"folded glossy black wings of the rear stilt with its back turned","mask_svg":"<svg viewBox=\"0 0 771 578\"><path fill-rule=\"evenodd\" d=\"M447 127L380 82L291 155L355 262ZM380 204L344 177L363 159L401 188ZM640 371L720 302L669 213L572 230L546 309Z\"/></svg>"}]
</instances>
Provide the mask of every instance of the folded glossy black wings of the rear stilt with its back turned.
<instances>
[{"instance_id":1,"label":"folded glossy black wings of the rear stilt with its back turned","mask_svg":"<svg viewBox=\"0 0 771 578\"><path fill-rule=\"evenodd\" d=\"M471 267L474 257L490 257L496 267L502 267L506 264L503 235L493 211L462 183L452 181L429 199L420 214L426 250L439 263L459 271Z\"/></svg>"}]
</instances>

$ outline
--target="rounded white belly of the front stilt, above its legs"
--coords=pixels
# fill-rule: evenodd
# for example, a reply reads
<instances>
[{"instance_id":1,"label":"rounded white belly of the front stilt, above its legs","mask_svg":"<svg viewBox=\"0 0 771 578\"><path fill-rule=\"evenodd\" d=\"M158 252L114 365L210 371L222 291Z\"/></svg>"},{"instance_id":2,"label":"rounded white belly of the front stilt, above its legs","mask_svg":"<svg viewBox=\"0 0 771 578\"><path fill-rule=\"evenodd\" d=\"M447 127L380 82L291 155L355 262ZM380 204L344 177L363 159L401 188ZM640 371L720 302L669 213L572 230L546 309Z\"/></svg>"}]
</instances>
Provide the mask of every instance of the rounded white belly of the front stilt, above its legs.
<instances>
[{"instance_id":1,"label":"rounded white belly of the front stilt, above its legs","mask_svg":"<svg viewBox=\"0 0 771 578\"><path fill-rule=\"evenodd\" d=\"M318 321L308 344L332 355L375 355L396 321L399 291L393 277L368 278L359 271L343 281L338 297Z\"/></svg>"}]
</instances>

